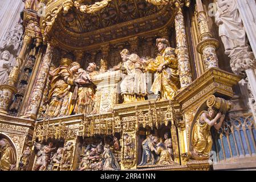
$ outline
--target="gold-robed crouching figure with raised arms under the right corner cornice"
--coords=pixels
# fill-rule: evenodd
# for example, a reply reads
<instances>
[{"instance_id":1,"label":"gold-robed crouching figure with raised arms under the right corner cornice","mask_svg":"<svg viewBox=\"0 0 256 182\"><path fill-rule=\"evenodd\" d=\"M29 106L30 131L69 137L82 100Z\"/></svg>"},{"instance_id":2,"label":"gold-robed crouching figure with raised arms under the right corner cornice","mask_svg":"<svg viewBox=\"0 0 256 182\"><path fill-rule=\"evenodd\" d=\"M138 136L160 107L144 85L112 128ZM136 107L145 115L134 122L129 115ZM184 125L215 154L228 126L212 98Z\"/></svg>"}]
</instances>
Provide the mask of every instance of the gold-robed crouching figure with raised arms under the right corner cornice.
<instances>
[{"instance_id":1,"label":"gold-robed crouching figure with raised arms under the right corner cornice","mask_svg":"<svg viewBox=\"0 0 256 182\"><path fill-rule=\"evenodd\" d=\"M209 159L209 153L213 146L210 128L214 126L217 131L220 130L224 118L225 115L217 114L217 110L214 107L209 107L208 111L200 113L192 131L192 158L199 160ZM218 122L218 119L220 119L220 122Z\"/></svg>"}]
</instances>

